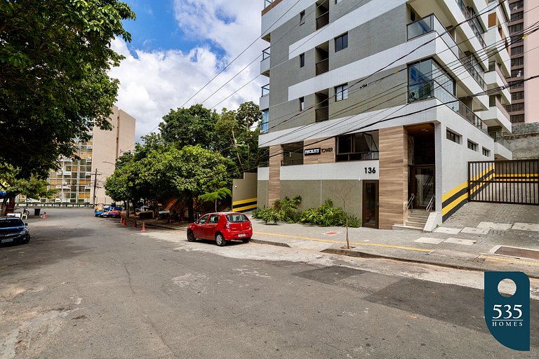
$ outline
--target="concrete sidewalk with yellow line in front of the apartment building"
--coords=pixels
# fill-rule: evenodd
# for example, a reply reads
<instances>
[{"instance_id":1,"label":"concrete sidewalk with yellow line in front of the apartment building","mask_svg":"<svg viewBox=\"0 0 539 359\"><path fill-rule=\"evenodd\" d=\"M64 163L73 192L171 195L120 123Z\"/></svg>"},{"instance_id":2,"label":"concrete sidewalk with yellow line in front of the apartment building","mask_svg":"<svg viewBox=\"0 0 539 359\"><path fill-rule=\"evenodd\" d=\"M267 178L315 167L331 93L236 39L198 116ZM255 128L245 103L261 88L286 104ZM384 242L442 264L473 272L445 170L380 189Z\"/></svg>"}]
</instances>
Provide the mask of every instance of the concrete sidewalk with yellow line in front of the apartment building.
<instances>
[{"instance_id":1,"label":"concrete sidewalk with yellow line in front of the apartment building","mask_svg":"<svg viewBox=\"0 0 539 359\"><path fill-rule=\"evenodd\" d=\"M144 222L147 228L185 231L187 227L185 222L173 224L163 220L145 220ZM352 248L347 249L345 248L346 229L343 227L288 223L264 224L260 219L252 217L251 222L253 224L252 243L353 257L375 257L434 264L474 271L523 271L531 278L539 278L539 225L537 224L522 226L518 223L481 222L473 228L446 227L444 224L433 233L350 228L348 233ZM132 217L128 219L128 226L133 226ZM142 221L138 220L139 230L141 226ZM525 251L519 251L517 248L524 248ZM499 253L496 253L497 251ZM505 255L500 253L505 253Z\"/></svg>"}]
</instances>

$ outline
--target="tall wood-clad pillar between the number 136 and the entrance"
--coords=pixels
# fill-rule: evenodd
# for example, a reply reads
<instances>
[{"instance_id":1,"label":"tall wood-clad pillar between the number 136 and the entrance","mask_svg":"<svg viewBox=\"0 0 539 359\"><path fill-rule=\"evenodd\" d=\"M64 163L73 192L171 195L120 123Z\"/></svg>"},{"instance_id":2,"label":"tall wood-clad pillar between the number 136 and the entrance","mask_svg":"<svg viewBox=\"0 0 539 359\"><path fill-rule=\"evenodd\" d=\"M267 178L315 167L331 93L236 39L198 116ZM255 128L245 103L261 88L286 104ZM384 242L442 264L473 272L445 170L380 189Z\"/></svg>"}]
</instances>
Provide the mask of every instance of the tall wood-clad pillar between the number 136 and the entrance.
<instances>
[{"instance_id":1,"label":"tall wood-clad pillar between the number 136 and the entrance","mask_svg":"<svg viewBox=\"0 0 539 359\"><path fill-rule=\"evenodd\" d=\"M408 132L403 126L380 129L380 229L404 224L407 197Z\"/></svg>"}]
</instances>

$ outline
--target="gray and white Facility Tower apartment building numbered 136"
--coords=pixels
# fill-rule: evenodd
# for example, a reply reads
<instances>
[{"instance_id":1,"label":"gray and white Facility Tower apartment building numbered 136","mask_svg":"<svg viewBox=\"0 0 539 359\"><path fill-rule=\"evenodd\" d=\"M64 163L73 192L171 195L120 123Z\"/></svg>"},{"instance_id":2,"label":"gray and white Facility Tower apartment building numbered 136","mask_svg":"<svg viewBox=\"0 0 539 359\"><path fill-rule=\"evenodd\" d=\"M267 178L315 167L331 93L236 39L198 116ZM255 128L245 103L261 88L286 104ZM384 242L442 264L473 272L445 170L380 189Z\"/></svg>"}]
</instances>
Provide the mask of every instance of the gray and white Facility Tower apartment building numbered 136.
<instances>
[{"instance_id":1,"label":"gray and white Facility Tower apartment building numbered 136","mask_svg":"<svg viewBox=\"0 0 539 359\"><path fill-rule=\"evenodd\" d=\"M512 158L507 1L265 4L260 208L345 197L364 226L410 208L445 220L467 201L468 161Z\"/></svg>"}]
</instances>

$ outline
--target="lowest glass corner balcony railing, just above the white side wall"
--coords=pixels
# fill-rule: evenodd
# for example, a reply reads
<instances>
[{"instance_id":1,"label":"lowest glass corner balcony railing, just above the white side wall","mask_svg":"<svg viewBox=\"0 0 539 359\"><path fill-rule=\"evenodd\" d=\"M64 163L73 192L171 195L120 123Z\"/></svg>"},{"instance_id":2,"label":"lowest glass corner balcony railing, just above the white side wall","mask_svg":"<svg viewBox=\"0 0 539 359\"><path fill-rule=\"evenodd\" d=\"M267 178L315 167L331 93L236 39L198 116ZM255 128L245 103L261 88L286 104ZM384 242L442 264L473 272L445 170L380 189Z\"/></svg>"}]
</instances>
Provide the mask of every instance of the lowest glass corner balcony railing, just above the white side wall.
<instances>
[{"instance_id":1,"label":"lowest glass corner balcony railing, just above the white side wall","mask_svg":"<svg viewBox=\"0 0 539 359\"><path fill-rule=\"evenodd\" d=\"M457 97L437 83L437 81L430 80L408 86L409 102L428 100L434 97L446 104L447 107L456 113L460 114L460 116L463 116L466 121L486 132L488 128L486 123L484 123L474 111L463 104L463 102L460 102Z\"/></svg>"}]
</instances>

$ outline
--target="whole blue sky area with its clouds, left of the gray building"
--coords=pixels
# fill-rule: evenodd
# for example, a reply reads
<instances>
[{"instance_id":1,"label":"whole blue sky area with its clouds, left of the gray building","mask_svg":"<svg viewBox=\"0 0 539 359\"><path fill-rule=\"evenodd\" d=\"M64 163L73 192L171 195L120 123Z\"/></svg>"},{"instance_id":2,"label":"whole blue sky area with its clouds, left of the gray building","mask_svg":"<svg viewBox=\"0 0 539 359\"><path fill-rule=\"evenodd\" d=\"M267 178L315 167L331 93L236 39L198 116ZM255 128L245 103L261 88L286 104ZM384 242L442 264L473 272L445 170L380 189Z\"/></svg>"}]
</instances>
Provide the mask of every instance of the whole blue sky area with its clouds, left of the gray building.
<instances>
[{"instance_id":1,"label":"whole blue sky area with its clouds, left of the gray building","mask_svg":"<svg viewBox=\"0 0 539 359\"><path fill-rule=\"evenodd\" d=\"M183 104L202 103L220 111L236 109L246 101L258 103L260 86L267 83L256 60L268 46L263 40L186 101L260 37L262 0L124 1L137 20L124 23L131 43L121 39L112 43L126 59L110 76L120 81L117 106L137 120L137 140ZM250 62L253 65L218 90Z\"/></svg>"}]
</instances>

